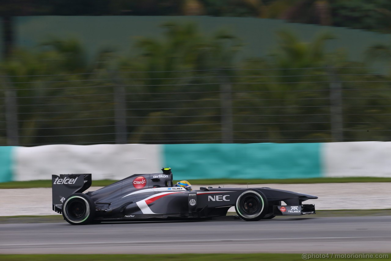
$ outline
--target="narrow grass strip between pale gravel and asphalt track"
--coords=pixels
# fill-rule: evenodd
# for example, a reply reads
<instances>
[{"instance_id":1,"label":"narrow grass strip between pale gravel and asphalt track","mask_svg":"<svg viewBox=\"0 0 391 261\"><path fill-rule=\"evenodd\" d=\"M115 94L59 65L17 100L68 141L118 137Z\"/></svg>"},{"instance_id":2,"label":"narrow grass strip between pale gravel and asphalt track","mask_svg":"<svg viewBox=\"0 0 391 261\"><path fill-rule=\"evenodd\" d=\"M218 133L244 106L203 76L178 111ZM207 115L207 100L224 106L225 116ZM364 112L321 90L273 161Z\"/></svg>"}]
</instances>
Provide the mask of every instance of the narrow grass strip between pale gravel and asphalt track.
<instances>
[{"instance_id":1,"label":"narrow grass strip between pale gravel and asphalt track","mask_svg":"<svg viewBox=\"0 0 391 261\"><path fill-rule=\"evenodd\" d=\"M229 212L228 215L236 215ZM391 209L371 209L371 210L316 210L315 215L304 216L277 216L276 218L316 218L316 217L365 217L365 216L390 216ZM0 224L16 223L57 223L66 222L62 215L47 216L0 216ZM1 260L1 259L0 259Z\"/></svg>"}]
</instances>

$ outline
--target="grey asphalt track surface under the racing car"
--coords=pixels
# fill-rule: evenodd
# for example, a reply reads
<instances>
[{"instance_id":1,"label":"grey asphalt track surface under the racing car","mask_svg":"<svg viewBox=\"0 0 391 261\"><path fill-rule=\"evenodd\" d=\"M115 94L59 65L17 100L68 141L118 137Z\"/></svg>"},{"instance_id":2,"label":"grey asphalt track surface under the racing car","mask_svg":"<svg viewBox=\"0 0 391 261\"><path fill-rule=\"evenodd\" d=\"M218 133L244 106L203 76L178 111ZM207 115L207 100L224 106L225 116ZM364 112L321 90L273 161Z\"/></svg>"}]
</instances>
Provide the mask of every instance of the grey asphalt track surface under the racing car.
<instances>
[{"instance_id":1,"label":"grey asphalt track surface under the racing car","mask_svg":"<svg viewBox=\"0 0 391 261\"><path fill-rule=\"evenodd\" d=\"M391 216L1 224L0 254L390 252Z\"/></svg>"}]
</instances>

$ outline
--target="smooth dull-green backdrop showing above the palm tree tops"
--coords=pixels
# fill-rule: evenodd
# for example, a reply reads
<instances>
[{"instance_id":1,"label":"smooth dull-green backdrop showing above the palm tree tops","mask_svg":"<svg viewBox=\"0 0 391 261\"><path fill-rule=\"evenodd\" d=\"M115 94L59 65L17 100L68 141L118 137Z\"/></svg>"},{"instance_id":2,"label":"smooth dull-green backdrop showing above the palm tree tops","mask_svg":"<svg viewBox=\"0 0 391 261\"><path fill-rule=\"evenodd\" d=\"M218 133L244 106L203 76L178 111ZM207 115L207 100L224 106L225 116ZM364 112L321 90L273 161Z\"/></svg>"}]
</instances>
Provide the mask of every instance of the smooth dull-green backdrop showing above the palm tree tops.
<instances>
[{"instance_id":1,"label":"smooth dull-green backdrop showing above the palm tree tops","mask_svg":"<svg viewBox=\"0 0 391 261\"><path fill-rule=\"evenodd\" d=\"M239 59L262 57L277 44L276 32L288 29L303 41L311 41L321 32L329 32L335 39L325 48L335 51L343 48L351 60L363 60L366 49L374 44L389 44L391 36L343 27L286 23L283 20L251 17L212 16L18 16L15 17L15 42L19 47L36 47L51 37L80 40L90 58L98 51L112 47L119 55L137 53L132 48L138 37L162 38L162 24L176 22L199 25L202 34L211 36L224 30L239 37L244 44L237 54Z\"/></svg>"}]
</instances>

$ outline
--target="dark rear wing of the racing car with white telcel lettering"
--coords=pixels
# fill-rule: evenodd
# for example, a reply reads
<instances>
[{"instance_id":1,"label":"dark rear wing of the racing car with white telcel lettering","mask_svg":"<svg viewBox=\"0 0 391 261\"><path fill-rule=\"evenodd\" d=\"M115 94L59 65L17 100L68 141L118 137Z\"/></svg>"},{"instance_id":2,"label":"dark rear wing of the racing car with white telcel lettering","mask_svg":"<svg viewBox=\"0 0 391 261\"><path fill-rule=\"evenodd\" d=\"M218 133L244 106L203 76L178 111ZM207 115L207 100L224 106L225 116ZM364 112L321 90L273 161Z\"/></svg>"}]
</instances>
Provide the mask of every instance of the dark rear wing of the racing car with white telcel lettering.
<instances>
[{"instance_id":1,"label":"dark rear wing of the racing car with white telcel lettering","mask_svg":"<svg viewBox=\"0 0 391 261\"><path fill-rule=\"evenodd\" d=\"M87 190L91 183L91 174L52 175L53 210L61 214L65 199L74 193L81 193Z\"/></svg>"}]
</instances>

